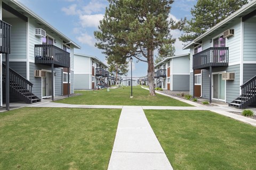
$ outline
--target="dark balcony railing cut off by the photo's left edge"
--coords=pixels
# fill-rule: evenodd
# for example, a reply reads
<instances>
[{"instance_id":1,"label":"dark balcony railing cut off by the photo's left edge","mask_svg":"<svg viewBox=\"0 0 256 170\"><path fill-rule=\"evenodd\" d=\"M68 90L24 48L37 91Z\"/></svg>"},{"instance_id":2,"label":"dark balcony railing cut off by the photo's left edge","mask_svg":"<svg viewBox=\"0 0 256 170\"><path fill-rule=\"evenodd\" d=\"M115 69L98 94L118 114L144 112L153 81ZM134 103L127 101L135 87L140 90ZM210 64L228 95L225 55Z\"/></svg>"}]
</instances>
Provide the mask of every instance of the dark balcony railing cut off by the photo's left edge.
<instances>
[{"instance_id":1,"label":"dark balcony railing cut off by the photo's left edge","mask_svg":"<svg viewBox=\"0 0 256 170\"><path fill-rule=\"evenodd\" d=\"M10 54L11 52L11 25L0 20L0 53Z\"/></svg>"}]
</instances>

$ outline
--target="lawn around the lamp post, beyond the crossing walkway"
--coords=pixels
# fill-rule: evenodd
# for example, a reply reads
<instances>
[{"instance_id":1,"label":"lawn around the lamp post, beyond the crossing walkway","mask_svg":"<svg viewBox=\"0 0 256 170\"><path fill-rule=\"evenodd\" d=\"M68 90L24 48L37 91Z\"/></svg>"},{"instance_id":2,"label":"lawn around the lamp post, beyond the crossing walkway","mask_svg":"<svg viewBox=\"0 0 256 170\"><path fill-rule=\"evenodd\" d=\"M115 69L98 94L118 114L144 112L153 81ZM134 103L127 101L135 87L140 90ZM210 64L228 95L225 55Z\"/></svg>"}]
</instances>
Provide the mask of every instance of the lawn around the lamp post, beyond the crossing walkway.
<instances>
[{"instance_id":1,"label":"lawn around the lamp post, beyond the crossing walkway","mask_svg":"<svg viewBox=\"0 0 256 170\"><path fill-rule=\"evenodd\" d=\"M140 86L133 87L133 98L131 87L117 89L76 91L80 96L69 97L58 100L57 103L80 104L80 105L126 105L126 106L191 106L179 100L163 95L149 96L149 91Z\"/></svg>"}]
</instances>

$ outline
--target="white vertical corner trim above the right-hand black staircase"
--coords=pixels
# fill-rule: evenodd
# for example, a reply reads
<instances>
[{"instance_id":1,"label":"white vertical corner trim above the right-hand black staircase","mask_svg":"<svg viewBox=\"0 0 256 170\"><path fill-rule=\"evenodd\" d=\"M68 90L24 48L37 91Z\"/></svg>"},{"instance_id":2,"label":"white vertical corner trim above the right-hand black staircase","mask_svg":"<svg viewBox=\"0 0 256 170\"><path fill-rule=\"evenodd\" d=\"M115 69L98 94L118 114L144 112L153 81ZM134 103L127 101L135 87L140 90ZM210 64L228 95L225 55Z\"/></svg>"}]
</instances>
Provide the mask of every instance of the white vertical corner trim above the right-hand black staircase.
<instances>
[{"instance_id":1,"label":"white vertical corner trim above the right-hand black staircase","mask_svg":"<svg viewBox=\"0 0 256 170\"><path fill-rule=\"evenodd\" d=\"M244 23L243 23L243 18L241 18L241 44L240 44L240 86L243 84L243 79L244 79ZM239 94L242 94L241 88L239 88Z\"/></svg>"}]
</instances>

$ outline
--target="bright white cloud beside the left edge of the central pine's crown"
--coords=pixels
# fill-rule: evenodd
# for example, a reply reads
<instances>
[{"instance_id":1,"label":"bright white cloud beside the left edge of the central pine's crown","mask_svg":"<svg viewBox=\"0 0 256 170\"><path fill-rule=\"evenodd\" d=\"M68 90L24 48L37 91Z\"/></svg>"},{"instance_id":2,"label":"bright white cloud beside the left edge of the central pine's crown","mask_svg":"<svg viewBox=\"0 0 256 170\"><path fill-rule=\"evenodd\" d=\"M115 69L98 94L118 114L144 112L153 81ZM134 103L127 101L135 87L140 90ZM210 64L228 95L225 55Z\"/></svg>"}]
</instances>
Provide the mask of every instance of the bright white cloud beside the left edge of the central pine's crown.
<instances>
[{"instance_id":1,"label":"bright white cloud beside the left edge of the central pine's crown","mask_svg":"<svg viewBox=\"0 0 256 170\"><path fill-rule=\"evenodd\" d=\"M82 27L97 27L100 23L100 20L103 19L103 14L94 14L94 15L81 15L79 16Z\"/></svg>"}]
</instances>

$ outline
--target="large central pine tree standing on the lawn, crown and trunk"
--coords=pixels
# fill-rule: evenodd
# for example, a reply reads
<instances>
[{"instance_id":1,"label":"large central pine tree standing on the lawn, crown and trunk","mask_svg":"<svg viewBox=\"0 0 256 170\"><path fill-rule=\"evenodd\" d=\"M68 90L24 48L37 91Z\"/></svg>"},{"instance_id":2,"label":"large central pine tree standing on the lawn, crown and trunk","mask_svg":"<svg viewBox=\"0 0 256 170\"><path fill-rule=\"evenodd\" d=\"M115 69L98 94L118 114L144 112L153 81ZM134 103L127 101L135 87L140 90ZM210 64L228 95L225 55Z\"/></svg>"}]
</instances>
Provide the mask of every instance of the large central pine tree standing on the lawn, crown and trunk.
<instances>
[{"instance_id":1,"label":"large central pine tree standing on the lawn, crown and trunk","mask_svg":"<svg viewBox=\"0 0 256 170\"><path fill-rule=\"evenodd\" d=\"M171 0L108 0L105 16L94 36L103 53L119 57L135 57L148 63L150 95L154 89L154 50L175 40L170 35L168 14Z\"/></svg>"}]
</instances>

